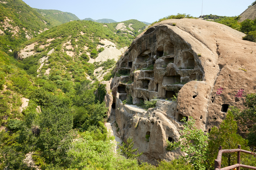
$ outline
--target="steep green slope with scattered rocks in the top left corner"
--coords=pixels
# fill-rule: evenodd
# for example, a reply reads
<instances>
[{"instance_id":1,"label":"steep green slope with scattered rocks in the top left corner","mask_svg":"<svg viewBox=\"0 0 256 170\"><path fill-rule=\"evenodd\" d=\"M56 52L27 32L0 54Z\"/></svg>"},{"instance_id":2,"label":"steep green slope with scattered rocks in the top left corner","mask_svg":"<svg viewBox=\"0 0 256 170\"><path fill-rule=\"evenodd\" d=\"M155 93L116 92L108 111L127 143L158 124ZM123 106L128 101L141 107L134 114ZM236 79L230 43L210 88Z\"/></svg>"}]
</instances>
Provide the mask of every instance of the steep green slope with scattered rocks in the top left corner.
<instances>
[{"instance_id":1,"label":"steep green slope with scattered rocks in the top left corner","mask_svg":"<svg viewBox=\"0 0 256 170\"><path fill-rule=\"evenodd\" d=\"M14 50L21 43L35 37L52 24L22 0L0 3L0 49Z\"/></svg>"}]
</instances>

